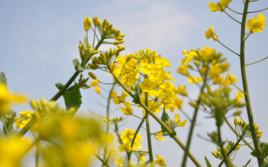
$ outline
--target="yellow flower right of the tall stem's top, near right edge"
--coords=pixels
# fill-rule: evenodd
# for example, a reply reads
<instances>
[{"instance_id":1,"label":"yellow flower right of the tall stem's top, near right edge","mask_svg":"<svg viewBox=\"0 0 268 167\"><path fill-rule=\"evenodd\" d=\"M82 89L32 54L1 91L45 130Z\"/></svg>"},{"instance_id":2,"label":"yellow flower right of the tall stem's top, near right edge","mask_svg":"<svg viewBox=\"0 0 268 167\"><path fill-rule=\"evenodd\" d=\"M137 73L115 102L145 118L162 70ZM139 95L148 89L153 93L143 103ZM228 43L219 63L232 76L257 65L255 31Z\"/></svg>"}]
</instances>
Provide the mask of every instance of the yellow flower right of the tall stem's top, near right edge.
<instances>
[{"instance_id":1,"label":"yellow flower right of the tall stem's top, near right edge","mask_svg":"<svg viewBox=\"0 0 268 167\"><path fill-rule=\"evenodd\" d=\"M262 28L266 26L265 24L265 17L263 14L259 14L258 18L256 19L256 15L254 18L250 18L247 21L247 29L253 34L253 32L262 32Z\"/></svg>"}]
</instances>

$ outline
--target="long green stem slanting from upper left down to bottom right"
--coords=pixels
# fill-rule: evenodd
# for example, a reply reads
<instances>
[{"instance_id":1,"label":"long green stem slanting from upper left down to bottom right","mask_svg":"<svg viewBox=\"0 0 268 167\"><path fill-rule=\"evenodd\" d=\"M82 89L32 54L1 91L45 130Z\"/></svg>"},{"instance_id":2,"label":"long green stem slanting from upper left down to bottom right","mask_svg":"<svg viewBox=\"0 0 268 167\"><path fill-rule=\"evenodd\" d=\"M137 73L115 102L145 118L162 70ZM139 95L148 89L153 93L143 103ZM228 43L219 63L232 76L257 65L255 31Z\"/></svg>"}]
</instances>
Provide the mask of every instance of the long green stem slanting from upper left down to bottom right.
<instances>
[{"instance_id":1,"label":"long green stem slanting from upper left down to bottom right","mask_svg":"<svg viewBox=\"0 0 268 167\"><path fill-rule=\"evenodd\" d=\"M118 84L132 97L134 98L134 95L131 93L131 91L121 82L119 79L116 77L116 75L111 71L111 67L108 66L109 71L111 72L111 75L113 75L114 79L118 82ZM182 148L182 150L186 150L186 147L184 144L180 141L180 139L174 135L174 133L167 127L166 123L164 123L157 115L155 115L143 102L139 102L142 108L145 109L174 139L174 141ZM189 151L188 152L189 158L192 160L192 162L197 166L197 167L202 167L202 165L196 160L196 158L192 155L192 153Z\"/></svg>"}]
</instances>

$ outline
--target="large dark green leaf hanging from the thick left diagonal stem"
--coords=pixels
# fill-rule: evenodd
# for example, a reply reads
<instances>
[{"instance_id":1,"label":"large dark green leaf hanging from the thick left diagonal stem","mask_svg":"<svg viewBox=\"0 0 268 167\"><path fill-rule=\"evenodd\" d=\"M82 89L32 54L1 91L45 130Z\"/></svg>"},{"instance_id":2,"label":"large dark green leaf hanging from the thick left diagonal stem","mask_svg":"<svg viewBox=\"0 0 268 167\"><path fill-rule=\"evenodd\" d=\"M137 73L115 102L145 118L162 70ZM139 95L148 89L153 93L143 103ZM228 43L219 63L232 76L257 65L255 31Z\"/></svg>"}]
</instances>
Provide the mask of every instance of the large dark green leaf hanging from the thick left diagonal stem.
<instances>
[{"instance_id":1,"label":"large dark green leaf hanging from the thick left diagonal stem","mask_svg":"<svg viewBox=\"0 0 268 167\"><path fill-rule=\"evenodd\" d=\"M79 88L80 88L79 85L74 85L68 88L63 93L66 110L70 109L71 107L75 107L77 111L78 108L80 108L82 104L82 100L81 100L82 96L81 96Z\"/></svg>"}]
</instances>

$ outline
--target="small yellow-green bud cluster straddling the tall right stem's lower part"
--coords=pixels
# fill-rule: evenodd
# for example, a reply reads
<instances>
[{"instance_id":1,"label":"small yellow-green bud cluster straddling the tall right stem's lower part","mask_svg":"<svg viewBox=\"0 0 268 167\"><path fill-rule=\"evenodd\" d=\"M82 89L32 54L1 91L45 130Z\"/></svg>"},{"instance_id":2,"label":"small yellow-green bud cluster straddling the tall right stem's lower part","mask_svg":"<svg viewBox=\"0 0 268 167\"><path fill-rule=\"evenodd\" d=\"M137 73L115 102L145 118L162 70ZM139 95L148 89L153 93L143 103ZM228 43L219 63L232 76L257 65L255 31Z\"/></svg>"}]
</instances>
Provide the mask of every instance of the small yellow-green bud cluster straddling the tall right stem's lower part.
<instances>
[{"instance_id":1,"label":"small yellow-green bud cluster straddling the tall right stem's lower part","mask_svg":"<svg viewBox=\"0 0 268 167\"><path fill-rule=\"evenodd\" d=\"M240 128L240 130L242 131L242 135L244 137L251 137L251 130L250 130L249 123L239 120L239 118L236 117L234 119L234 125ZM260 139L262 135L262 131L259 131L259 126L256 123L255 123L255 131L257 133L258 139Z\"/></svg>"}]
</instances>

